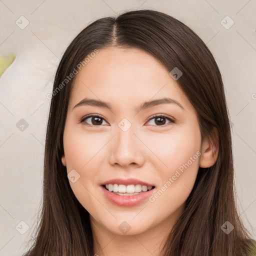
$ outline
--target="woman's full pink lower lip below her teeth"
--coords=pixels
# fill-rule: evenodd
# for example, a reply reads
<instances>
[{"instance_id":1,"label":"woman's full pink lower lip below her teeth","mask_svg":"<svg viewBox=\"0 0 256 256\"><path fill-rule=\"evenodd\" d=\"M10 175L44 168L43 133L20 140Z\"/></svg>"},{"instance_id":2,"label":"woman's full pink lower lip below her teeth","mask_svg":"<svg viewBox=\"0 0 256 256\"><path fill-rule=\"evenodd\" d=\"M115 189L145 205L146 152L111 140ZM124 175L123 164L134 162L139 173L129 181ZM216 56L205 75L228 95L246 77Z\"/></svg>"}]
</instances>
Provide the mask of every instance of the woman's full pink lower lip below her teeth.
<instances>
[{"instance_id":1,"label":"woman's full pink lower lip below her teeth","mask_svg":"<svg viewBox=\"0 0 256 256\"><path fill-rule=\"evenodd\" d=\"M135 205L143 202L144 200L146 200L152 194L155 187L146 192L142 192L142 193L138 193L138 194L134 194L134 195L114 194L112 192L109 192L103 186L101 186L101 189L103 190L103 193L106 196L106 198L113 204L118 205L118 206L123 206L123 207L131 207L131 206L135 206Z\"/></svg>"}]
</instances>

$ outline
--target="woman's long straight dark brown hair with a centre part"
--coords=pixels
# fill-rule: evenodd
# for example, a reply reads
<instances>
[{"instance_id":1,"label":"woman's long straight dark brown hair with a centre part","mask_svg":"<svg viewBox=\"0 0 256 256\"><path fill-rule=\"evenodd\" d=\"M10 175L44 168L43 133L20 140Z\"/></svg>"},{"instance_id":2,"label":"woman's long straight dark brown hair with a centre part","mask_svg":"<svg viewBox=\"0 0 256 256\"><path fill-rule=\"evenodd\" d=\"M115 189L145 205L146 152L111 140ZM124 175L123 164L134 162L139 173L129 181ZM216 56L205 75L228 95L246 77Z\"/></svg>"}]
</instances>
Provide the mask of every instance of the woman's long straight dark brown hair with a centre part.
<instances>
[{"instance_id":1,"label":"woman's long straight dark brown hair with a centre part","mask_svg":"<svg viewBox=\"0 0 256 256\"><path fill-rule=\"evenodd\" d=\"M63 81L87 55L108 46L136 47L155 56L168 70L178 67L182 71L178 84L197 112L202 139L208 136L216 140L213 129L217 130L216 162L209 168L199 167L184 211L163 241L162 255L246 255L250 237L235 205L230 121L217 64L189 27L167 14L147 9L90 23L60 60L46 131L42 205L34 230L36 237L26 255L93 255L89 213L74 196L66 167L61 164L73 79ZM221 229L226 221L234 227L228 234Z\"/></svg>"}]
</instances>

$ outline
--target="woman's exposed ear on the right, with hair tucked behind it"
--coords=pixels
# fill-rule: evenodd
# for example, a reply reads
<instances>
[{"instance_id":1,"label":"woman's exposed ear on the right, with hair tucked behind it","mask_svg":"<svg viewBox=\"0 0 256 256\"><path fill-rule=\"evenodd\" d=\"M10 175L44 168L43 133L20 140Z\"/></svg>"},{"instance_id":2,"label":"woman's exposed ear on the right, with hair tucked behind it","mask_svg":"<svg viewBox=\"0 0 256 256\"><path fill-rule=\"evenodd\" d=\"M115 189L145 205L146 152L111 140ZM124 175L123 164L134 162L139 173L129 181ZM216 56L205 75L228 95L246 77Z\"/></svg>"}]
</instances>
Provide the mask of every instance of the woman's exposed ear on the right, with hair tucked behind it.
<instances>
[{"instance_id":1,"label":"woman's exposed ear on the right, with hair tucked behind it","mask_svg":"<svg viewBox=\"0 0 256 256\"><path fill-rule=\"evenodd\" d=\"M202 141L199 166L201 168L207 168L212 166L217 160L218 150L218 133L216 128L214 127L212 135L205 137Z\"/></svg>"}]
</instances>

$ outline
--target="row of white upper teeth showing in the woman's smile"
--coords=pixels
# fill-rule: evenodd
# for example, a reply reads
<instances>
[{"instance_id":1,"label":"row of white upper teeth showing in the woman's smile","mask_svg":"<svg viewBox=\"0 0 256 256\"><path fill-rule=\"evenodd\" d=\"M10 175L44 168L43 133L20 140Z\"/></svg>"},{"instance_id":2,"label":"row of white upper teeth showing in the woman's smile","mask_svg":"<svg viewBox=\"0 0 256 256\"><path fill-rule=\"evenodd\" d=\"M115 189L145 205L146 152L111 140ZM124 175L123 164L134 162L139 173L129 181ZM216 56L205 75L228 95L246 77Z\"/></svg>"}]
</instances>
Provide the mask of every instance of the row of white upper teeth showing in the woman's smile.
<instances>
[{"instance_id":1,"label":"row of white upper teeth showing in the woman's smile","mask_svg":"<svg viewBox=\"0 0 256 256\"><path fill-rule=\"evenodd\" d=\"M133 195L142 192L146 192L147 190L152 189L152 186L140 185L140 184L130 184L130 185L123 185L123 184L106 184L105 185L108 191L113 192L115 194L120 195Z\"/></svg>"}]
</instances>

